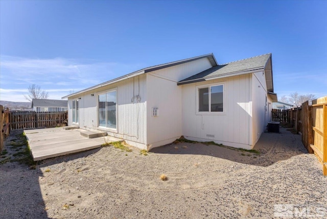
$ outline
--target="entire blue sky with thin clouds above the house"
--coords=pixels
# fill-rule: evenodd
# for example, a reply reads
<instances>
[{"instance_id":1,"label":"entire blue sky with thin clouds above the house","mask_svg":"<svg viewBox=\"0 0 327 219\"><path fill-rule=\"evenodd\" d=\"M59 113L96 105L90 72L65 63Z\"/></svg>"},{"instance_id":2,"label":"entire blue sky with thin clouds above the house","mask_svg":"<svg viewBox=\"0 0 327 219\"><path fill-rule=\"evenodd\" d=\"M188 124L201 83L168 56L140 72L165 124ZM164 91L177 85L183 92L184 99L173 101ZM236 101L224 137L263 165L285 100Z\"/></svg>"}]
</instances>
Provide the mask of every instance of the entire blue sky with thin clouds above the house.
<instances>
[{"instance_id":1,"label":"entire blue sky with thin clouds above the house","mask_svg":"<svg viewBox=\"0 0 327 219\"><path fill-rule=\"evenodd\" d=\"M327 95L327 1L0 1L0 99L51 99L152 65L272 53L274 92Z\"/></svg>"}]
</instances>

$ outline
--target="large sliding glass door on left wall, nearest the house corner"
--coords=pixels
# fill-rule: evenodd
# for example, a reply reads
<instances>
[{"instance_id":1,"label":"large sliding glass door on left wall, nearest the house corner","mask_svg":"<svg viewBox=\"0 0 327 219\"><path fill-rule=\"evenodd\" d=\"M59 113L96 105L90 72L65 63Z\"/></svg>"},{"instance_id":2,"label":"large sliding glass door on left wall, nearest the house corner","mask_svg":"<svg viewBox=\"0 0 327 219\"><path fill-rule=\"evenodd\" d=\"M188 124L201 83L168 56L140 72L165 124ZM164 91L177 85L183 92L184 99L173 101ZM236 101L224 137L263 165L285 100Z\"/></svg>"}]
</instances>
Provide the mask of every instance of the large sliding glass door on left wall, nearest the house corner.
<instances>
[{"instance_id":1,"label":"large sliding glass door on left wall, nearest the house corner","mask_svg":"<svg viewBox=\"0 0 327 219\"><path fill-rule=\"evenodd\" d=\"M117 97L116 90L99 94L98 108L99 108L99 127L106 127L117 129L116 124L116 109Z\"/></svg>"}]
</instances>

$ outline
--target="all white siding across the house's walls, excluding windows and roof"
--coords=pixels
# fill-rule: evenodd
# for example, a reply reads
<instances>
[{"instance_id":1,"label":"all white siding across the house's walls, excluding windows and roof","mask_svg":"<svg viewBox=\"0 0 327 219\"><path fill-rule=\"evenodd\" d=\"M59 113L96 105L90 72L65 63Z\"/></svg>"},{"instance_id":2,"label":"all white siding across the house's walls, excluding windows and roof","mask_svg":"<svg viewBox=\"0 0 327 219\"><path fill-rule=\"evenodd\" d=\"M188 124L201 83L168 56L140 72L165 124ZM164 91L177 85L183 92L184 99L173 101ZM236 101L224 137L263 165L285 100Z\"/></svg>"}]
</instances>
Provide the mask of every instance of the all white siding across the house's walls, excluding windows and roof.
<instances>
[{"instance_id":1,"label":"all white siding across the house's walls, excluding windows and roof","mask_svg":"<svg viewBox=\"0 0 327 219\"><path fill-rule=\"evenodd\" d=\"M190 140L251 149L270 119L265 74L255 70L259 72L177 85L211 67L208 58L201 58L69 96L68 125L73 125L73 100L80 98L80 128L101 129L98 95L116 89L117 129L105 129L109 136L142 149L171 143L182 135ZM198 86L215 84L224 85L224 112L198 113ZM136 96L141 99L136 101ZM152 115L153 107L158 109L157 116Z\"/></svg>"}]
</instances>

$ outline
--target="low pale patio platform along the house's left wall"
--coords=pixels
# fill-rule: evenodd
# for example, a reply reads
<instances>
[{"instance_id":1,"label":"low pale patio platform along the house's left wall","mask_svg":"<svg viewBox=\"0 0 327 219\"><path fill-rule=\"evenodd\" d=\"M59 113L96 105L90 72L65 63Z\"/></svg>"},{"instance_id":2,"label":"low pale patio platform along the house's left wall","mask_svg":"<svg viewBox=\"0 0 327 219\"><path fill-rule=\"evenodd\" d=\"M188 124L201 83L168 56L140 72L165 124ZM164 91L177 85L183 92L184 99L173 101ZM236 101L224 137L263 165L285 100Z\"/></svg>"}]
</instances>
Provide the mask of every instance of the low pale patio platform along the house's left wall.
<instances>
[{"instance_id":1,"label":"low pale patio platform along the house's left wall","mask_svg":"<svg viewBox=\"0 0 327 219\"><path fill-rule=\"evenodd\" d=\"M81 136L81 129L43 128L25 130L34 161L73 154L97 147L105 142L121 141L109 136L86 138ZM105 138L105 139L104 139Z\"/></svg>"}]
</instances>

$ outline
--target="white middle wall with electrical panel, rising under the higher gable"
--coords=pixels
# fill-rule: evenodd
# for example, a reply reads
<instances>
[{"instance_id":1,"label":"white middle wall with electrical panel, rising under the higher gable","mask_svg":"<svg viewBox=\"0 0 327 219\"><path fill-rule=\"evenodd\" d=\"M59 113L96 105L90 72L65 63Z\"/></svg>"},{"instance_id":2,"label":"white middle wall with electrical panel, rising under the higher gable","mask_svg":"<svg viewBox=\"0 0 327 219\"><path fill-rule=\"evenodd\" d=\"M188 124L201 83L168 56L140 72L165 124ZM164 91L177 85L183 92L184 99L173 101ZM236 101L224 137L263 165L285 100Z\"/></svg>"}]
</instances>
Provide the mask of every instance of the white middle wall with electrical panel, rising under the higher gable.
<instances>
[{"instance_id":1,"label":"white middle wall with electrical panel, rising under the higher gable","mask_svg":"<svg viewBox=\"0 0 327 219\"><path fill-rule=\"evenodd\" d=\"M211 68L207 58L175 65L147 74L148 149L171 143L182 135L182 86L177 82ZM152 108L159 116L152 116Z\"/></svg>"}]
</instances>

